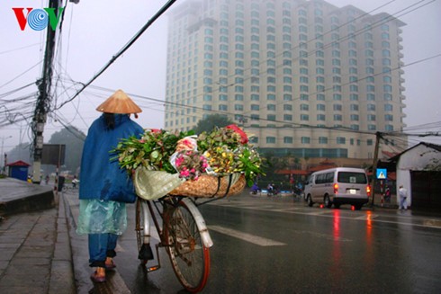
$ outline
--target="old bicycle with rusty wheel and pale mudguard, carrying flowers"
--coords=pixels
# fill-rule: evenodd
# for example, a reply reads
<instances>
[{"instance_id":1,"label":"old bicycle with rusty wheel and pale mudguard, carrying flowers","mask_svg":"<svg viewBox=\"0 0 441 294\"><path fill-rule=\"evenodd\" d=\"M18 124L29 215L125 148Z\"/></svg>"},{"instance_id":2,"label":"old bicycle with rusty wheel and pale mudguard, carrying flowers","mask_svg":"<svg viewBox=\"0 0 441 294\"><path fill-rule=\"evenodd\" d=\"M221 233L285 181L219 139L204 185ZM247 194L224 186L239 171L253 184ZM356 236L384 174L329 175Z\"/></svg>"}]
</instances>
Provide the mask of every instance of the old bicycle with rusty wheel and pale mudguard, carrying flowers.
<instances>
[{"instance_id":1,"label":"old bicycle with rusty wheel and pale mudguard, carrying flowers","mask_svg":"<svg viewBox=\"0 0 441 294\"><path fill-rule=\"evenodd\" d=\"M135 230L140 263L146 265L147 272L157 271L161 267L159 248L164 247L175 275L185 290L195 293L205 287L210 274L210 247L213 242L197 207L230 195L230 184L229 180L226 192L221 196L208 199L169 194L157 200L138 197ZM241 184L239 191L243 190L245 182ZM146 250L146 246L149 248L150 218L157 230L159 243L156 245L157 264L147 266L148 260L153 259L153 256L141 253ZM162 219L162 224L159 223L159 219Z\"/></svg>"}]
</instances>

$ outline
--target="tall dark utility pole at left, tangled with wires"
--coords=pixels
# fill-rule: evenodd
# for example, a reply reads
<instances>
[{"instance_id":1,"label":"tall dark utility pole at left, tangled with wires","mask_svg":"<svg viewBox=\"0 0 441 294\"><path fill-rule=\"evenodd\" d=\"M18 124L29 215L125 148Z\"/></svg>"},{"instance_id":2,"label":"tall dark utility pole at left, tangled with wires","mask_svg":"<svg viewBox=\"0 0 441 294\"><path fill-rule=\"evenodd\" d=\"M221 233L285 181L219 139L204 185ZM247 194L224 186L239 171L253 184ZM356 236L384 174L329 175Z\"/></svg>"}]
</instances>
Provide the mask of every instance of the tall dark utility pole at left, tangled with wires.
<instances>
[{"instance_id":1,"label":"tall dark utility pole at left, tangled with wires","mask_svg":"<svg viewBox=\"0 0 441 294\"><path fill-rule=\"evenodd\" d=\"M54 8L54 12L58 13L60 0L49 0L49 8ZM33 134L33 183L40 183L41 180L41 155L43 150L43 130L47 120L50 102L50 86L52 83L52 62L55 53L55 35L56 30L52 30L50 26L47 28L46 34L46 50L44 52L42 77L37 81L39 88L39 96L33 113L31 129Z\"/></svg>"}]
</instances>

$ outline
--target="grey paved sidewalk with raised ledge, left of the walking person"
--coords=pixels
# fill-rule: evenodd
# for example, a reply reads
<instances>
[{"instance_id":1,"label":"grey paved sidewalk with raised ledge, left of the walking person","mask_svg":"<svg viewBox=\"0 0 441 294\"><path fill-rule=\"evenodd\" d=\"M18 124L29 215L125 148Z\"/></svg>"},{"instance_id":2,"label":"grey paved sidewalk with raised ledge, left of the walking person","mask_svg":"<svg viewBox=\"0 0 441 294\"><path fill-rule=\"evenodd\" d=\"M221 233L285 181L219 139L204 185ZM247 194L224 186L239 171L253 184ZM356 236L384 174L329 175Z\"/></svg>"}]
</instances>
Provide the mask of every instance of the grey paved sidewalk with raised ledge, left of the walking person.
<instances>
[{"instance_id":1,"label":"grey paved sidewalk with raised ledge, left of the walking person","mask_svg":"<svg viewBox=\"0 0 441 294\"><path fill-rule=\"evenodd\" d=\"M0 179L2 294L76 293L64 201L51 189Z\"/></svg>"}]
</instances>

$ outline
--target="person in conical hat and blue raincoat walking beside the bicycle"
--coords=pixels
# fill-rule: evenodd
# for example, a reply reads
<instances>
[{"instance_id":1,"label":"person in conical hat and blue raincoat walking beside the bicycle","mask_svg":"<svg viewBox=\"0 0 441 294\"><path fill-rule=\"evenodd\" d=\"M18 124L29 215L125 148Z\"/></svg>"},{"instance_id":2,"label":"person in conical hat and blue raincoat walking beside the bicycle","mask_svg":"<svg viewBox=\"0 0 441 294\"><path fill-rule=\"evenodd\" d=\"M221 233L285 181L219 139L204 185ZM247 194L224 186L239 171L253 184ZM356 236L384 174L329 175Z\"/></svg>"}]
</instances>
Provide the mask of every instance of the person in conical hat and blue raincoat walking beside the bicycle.
<instances>
[{"instance_id":1,"label":"person in conical hat and blue raincoat walking beside the bicycle","mask_svg":"<svg viewBox=\"0 0 441 294\"><path fill-rule=\"evenodd\" d=\"M89 128L80 171L80 213L76 232L88 234L89 266L96 268L94 282L105 281L105 270L115 267L112 258L118 236L127 227L125 203L136 195L125 170L120 169L111 150L121 138L140 136L143 129L130 119L141 112L139 106L118 90L96 108L103 114Z\"/></svg>"}]
</instances>

